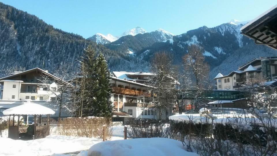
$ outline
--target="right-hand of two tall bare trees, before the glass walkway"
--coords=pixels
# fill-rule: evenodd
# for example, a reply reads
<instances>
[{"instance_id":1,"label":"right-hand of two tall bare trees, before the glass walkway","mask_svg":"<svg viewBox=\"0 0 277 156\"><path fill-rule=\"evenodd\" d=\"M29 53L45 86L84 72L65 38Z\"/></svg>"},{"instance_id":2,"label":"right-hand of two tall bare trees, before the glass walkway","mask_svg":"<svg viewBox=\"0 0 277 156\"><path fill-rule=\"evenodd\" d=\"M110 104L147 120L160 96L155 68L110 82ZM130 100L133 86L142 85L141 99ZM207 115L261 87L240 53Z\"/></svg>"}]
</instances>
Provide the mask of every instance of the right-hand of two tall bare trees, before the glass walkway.
<instances>
[{"instance_id":1,"label":"right-hand of two tall bare trees, before the glass walkway","mask_svg":"<svg viewBox=\"0 0 277 156\"><path fill-rule=\"evenodd\" d=\"M194 105L197 109L198 105L201 104L199 95L203 90L209 89L209 65L205 62L203 49L194 44L188 48L188 54L183 57L183 61L184 73L195 80L195 86L193 87Z\"/></svg>"}]
</instances>

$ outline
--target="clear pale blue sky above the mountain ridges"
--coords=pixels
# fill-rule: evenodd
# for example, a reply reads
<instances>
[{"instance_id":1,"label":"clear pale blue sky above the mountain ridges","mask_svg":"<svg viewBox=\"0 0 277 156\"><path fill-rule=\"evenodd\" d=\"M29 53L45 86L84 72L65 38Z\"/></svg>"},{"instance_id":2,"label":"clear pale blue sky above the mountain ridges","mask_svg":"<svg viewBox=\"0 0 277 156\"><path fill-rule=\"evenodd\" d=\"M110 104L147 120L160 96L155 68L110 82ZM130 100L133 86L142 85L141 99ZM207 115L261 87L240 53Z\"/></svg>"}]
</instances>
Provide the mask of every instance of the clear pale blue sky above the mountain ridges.
<instances>
[{"instance_id":1,"label":"clear pale blue sky above the mountain ridges","mask_svg":"<svg viewBox=\"0 0 277 156\"><path fill-rule=\"evenodd\" d=\"M214 27L231 19L259 16L276 0L0 0L38 16L46 23L88 38L96 33L119 36L140 26L162 28L175 35L203 25Z\"/></svg>"}]
</instances>

